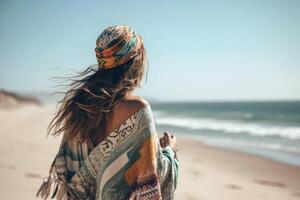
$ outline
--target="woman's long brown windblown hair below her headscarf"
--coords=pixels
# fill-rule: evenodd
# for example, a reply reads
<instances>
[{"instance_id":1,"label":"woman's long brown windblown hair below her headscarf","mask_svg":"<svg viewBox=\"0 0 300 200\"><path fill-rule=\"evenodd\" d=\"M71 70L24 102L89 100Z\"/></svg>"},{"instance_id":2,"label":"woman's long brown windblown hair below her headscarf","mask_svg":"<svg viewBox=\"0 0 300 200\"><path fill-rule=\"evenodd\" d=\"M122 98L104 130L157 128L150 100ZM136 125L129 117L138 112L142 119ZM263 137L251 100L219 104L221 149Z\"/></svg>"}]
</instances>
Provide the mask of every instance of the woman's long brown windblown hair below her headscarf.
<instances>
[{"instance_id":1,"label":"woman's long brown windblown hair below her headscarf","mask_svg":"<svg viewBox=\"0 0 300 200\"><path fill-rule=\"evenodd\" d=\"M141 87L146 65L148 73L148 60L142 47L139 55L122 65L111 69L89 66L68 77L70 88L58 102L59 109L48 126L48 135L64 133L67 139L97 141L99 133L106 130L112 106L128 92Z\"/></svg>"}]
</instances>

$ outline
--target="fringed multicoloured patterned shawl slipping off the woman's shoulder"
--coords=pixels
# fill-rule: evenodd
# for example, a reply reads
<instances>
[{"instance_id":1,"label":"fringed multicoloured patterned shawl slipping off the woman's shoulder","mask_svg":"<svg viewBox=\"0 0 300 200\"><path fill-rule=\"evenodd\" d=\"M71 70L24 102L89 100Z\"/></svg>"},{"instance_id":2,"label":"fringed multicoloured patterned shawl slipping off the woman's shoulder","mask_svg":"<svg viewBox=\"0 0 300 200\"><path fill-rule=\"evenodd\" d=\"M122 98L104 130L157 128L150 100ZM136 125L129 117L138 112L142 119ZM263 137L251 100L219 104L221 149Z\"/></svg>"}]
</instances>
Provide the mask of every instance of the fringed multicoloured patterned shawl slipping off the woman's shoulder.
<instances>
[{"instance_id":1,"label":"fringed multicoloured patterned shawl slipping off the woman's shoulder","mask_svg":"<svg viewBox=\"0 0 300 200\"><path fill-rule=\"evenodd\" d=\"M179 162L159 144L150 105L98 145L62 139L37 196L47 199L173 199Z\"/></svg>"}]
</instances>

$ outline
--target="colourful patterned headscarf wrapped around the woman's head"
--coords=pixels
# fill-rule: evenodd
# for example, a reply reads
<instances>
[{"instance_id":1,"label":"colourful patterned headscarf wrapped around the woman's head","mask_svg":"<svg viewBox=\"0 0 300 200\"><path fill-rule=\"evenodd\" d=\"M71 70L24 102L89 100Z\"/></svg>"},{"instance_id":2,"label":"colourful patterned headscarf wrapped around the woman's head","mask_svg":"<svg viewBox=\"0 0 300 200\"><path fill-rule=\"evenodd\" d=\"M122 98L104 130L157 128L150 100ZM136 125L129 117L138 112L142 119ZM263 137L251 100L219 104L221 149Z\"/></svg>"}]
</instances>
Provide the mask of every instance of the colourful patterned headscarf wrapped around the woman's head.
<instances>
[{"instance_id":1,"label":"colourful patterned headscarf wrapped around the woman's head","mask_svg":"<svg viewBox=\"0 0 300 200\"><path fill-rule=\"evenodd\" d=\"M110 69L128 62L143 48L143 40L128 25L106 28L96 41L96 58L100 68Z\"/></svg>"}]
</instances>

